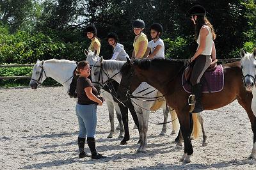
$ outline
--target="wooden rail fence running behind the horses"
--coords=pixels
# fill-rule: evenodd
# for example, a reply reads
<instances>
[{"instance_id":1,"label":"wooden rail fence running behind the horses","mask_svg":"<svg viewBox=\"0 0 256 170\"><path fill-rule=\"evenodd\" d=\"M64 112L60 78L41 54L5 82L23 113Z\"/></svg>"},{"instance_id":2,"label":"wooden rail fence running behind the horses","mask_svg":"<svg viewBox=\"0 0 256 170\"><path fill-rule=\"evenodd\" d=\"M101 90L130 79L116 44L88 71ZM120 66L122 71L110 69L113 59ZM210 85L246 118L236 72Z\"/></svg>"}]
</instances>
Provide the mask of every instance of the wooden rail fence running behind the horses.
<instances>
[{"instance_id":1,"label":"wooden rail fence running behind the horses","mask_svg":"<svg viewBox=\"0 0 256 170\"><path fill-rule=\"evenodd\" d=\"M188 61L188 59L173 59L179 61ZM240 61L241 58L227 58L227 59L218 59L218 63L225 64L234 61ZM10 68L10 67L24 67L24 66L34 66L35 64L28 64L28 65L0 65L1 68ZM9 80L9 79L30 79L31 76L6 76L0 77L0 80Z\"/></svg>"}]
</instances>

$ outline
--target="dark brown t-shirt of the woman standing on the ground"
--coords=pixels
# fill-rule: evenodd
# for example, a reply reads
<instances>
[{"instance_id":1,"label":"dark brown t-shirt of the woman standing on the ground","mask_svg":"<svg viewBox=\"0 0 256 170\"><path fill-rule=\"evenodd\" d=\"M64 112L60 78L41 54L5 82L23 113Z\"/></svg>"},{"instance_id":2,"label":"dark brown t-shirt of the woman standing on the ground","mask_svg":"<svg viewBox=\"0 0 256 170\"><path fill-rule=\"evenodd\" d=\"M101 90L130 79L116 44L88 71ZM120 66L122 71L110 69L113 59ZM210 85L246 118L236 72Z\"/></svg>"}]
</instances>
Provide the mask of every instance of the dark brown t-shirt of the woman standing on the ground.
<instances>
[{"instance_id":1,"label":"dark brown t-shirt of the woman standing on the ground","mask_svg":"<svg viewBox=\"0 0 256 170\"><path fill-rule=\"evenodd\" d=\"M97 96L97 89L92 85L92 82L88 78L84 77L78 77L77 79L77 84L76 84L76 93L77 93L77 98L78 104L83 104L83 105L88 105L88 104L97 104L96 102L93 102L86 96L86 93L84 91L85 88L87 87L92 87L92 93L93 95Z\"/></svg>"}]
</instances>

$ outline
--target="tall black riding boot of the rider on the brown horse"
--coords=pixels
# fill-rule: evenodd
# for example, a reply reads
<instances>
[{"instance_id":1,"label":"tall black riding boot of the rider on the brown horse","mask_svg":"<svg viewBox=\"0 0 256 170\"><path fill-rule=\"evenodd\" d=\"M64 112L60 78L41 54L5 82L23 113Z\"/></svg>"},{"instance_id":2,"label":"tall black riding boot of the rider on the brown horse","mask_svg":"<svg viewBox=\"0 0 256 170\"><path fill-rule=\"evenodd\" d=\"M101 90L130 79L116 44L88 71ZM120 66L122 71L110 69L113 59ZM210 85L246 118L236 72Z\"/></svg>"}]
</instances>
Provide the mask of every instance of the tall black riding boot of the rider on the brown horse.
<instances>
[{"instance_id":1,"label":"tall black riding boot of the rider on the brown horse","mask_svg":"<svg viewBox=\"0 0 256 170\"><path fill-rule=\"evenodd\" d=\"M198 113L204 111L202 106L202 84L198 83L192 86L192 92L196 98L195 108L193 109L192 113Z\"/></svg>"}]
</instances>

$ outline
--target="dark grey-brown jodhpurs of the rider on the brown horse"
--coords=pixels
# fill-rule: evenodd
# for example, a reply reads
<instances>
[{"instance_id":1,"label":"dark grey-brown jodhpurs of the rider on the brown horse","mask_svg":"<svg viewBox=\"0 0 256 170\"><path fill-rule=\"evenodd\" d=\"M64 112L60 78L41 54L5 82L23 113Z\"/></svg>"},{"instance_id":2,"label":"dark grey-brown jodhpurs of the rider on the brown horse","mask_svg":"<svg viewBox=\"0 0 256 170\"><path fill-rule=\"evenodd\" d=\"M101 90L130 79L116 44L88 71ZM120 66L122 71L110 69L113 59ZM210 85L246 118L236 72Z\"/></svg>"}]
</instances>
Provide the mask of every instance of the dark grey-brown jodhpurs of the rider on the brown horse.
<instances>
[{"instance_id":1,"label":"dark grey-brown jodhpurs of the rider on the brown horse","mask_svg":"<svg viewBox=\"0 0 256 170\"><path fill-rule=\"evenodd\" d=\"M200 55L195 59L195 65L191 73L191 84L195 86L200 82L205 70L211 65L211 56Z\"/></svg>"}]
</instances>

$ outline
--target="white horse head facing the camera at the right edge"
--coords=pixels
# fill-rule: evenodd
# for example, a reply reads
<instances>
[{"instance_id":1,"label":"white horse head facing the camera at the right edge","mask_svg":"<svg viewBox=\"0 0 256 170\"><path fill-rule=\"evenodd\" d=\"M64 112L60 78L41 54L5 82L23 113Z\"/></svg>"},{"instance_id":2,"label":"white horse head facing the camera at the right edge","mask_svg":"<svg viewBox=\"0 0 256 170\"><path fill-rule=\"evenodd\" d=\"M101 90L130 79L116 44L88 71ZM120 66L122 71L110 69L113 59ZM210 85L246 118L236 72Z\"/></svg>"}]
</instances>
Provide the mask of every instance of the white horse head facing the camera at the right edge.
<instances>
[{"instance_id":1,"label":"white horse head facing the camera at the right edge","mask_svg":"<svg viewBox=\"0 0 256 170\"><path fill-rule=\"evenodd\" d=\"M244 86L247 91L252 91L255 85L256 76L256 48L252 53L244 52L241 49L241 68L243 72Z\"/></svg>"}]
</instances>

